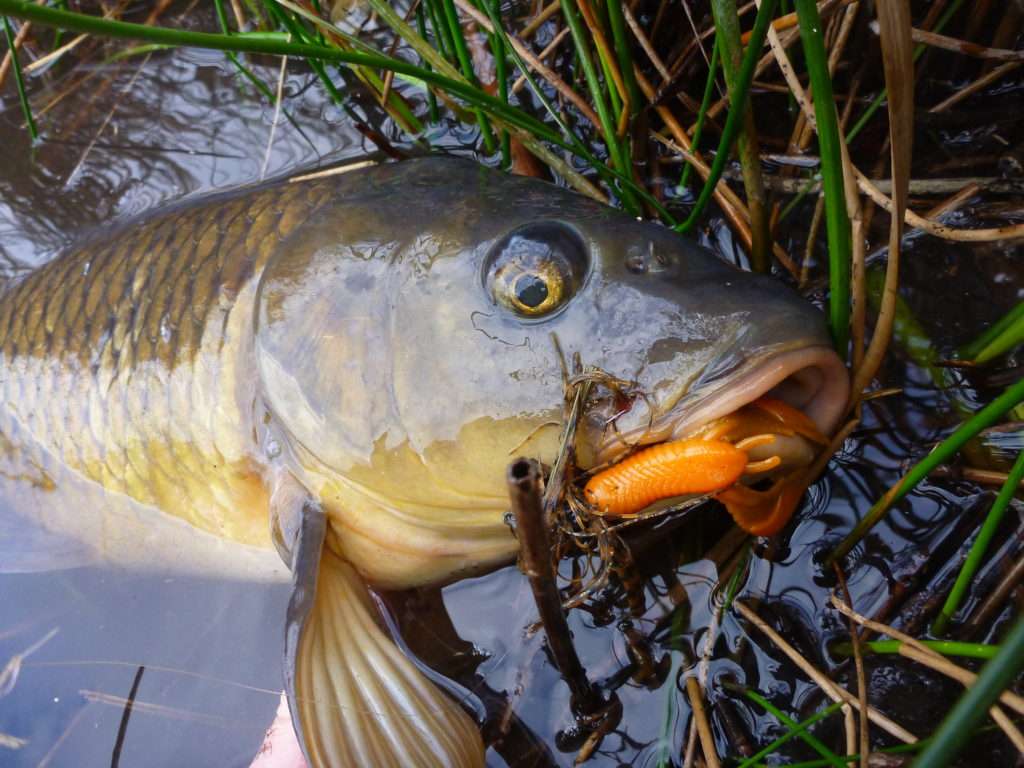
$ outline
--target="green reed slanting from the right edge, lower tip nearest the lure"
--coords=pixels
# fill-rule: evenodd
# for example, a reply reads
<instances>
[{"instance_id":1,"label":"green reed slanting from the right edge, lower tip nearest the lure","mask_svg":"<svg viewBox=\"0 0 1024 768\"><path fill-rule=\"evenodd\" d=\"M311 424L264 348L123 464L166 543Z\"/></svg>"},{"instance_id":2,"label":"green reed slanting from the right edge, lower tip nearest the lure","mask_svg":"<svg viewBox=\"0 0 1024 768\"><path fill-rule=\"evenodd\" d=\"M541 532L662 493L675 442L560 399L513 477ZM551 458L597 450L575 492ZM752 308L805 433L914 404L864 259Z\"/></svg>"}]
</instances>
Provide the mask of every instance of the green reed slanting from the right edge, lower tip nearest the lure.
<instances>
[{"instance_id":1,"label":"green reed slanting from the right edge, lower tip nearest the lure","mask_svg":"<svg viewBox=\"0 0 1024 768\"><path fill-rule=\"evenodd\" d=\"M803 0L798 0L802 2ZM881 520L889 508L910 493L937 466L949 461L968 440L981 430L995 424L999 417L1024 401L1024 380L1008 387L998 397L964 422L949 437L944 439L927 457L918 462L895 485L889 488L879 501L867 511L867 514L854 526L840 545L825 558L825 565L846 556L857 543Z\"/></svg>"}]
</instances>

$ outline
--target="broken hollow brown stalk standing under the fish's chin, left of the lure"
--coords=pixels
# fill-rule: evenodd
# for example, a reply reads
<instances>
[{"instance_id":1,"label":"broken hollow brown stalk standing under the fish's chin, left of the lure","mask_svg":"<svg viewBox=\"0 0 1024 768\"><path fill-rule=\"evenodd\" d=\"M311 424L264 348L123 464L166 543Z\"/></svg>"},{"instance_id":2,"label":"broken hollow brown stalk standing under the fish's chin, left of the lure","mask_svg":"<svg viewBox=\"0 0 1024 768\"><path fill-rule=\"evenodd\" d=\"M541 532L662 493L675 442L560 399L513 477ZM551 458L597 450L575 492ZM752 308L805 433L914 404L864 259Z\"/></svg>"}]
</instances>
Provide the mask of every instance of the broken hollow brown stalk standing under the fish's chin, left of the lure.
<instances>
[{"instance_id":1,"label":"broken hollow brown stalk standing under the fish's chin, left of the lure","mask_svg":"<svg viewBox=\"0 0 1024 768\"><path fill-rule=\"evenodd\" d=\"M600 692L587 678L587 671L577 655L568 622L562 610L562 598L555 584L551 543L544 519L541 468L530 459L517 459L509 465L507 479L516 537L519 539L519 563L529 580L548 647L555 666L569 686L573 712L592 717L605 709L606 705Z\"/></svg>"}]
</instances>

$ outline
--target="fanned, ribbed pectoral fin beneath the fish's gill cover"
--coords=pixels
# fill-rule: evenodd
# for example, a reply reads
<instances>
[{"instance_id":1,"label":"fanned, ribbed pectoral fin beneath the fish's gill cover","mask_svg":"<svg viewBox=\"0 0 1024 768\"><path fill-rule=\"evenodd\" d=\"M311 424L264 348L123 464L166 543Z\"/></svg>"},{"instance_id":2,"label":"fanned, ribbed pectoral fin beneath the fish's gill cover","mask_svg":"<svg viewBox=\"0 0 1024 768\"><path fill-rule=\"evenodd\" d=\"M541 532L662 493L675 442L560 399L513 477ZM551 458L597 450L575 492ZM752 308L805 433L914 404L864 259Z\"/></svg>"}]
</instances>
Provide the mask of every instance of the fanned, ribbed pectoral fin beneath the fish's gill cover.
<instances>
[{"instance_id":1,"label":"fanned, ribbed pectoral fin beneath the fish's gill cover","mask_svg":"<svg viewBox=\"0 0 1024 768\"><path fill-rule=\"evenodd\" d=\"M324 548L325 529L323 512L307 505L286 641L289 705L306 759L317 768L482 766L476 724L381 630L358 573Z\"/></svg>"}]
</instances>

